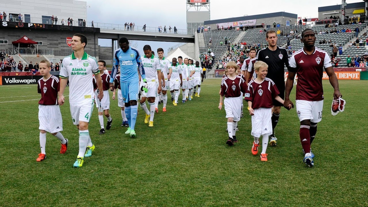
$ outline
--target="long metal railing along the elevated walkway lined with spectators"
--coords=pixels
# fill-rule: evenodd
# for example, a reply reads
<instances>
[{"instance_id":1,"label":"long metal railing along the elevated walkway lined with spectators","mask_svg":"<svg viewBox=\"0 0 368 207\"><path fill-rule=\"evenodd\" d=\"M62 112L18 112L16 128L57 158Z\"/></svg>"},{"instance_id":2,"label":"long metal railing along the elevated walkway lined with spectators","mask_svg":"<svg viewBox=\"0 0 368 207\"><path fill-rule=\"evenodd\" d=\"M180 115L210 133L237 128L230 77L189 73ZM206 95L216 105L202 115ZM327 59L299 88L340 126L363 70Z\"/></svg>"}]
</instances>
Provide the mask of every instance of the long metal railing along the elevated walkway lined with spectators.
<instances>
[{"instance_id":1,"label":"long metal railing along the elevated walkway lined with spectators","mask_svg":"<svg viewBox=\"0 0 368 207\"><path fill-rule=\"evenodd\" d=\"M7 17L7 20L9 18ZM18 22L18 18L14 18L14 22ZM1 20L3 21L3 20ZM74 26L74 27L92 27L92 22L88 21L80 21L80 20L72 20L68 23L67 19L58 19L57 21L52 20L50 18L39 18L39 17L27 17L26 21L21 20L24 23L36 23L36 24L53 24L53 25L64 25L64 26ZM130 22L127 22L130 24ZM125 30L125 31L134 31L134 32L157 32L157 33L167 33L167 34L182 34L182 35L193 35L194 30L187 30L187 29L175 29L174 26L169 29L170 25L166 25L166 31L164 29L165 25L158 25L157 27L144 27L144 25L134 25L130 28L130 25L125 27L124 24L111 24L111 23L103 23L103 22L93 22L93 27L100 28L100 29L114 29L114 30Z\"/></svg>"}]
</instances>

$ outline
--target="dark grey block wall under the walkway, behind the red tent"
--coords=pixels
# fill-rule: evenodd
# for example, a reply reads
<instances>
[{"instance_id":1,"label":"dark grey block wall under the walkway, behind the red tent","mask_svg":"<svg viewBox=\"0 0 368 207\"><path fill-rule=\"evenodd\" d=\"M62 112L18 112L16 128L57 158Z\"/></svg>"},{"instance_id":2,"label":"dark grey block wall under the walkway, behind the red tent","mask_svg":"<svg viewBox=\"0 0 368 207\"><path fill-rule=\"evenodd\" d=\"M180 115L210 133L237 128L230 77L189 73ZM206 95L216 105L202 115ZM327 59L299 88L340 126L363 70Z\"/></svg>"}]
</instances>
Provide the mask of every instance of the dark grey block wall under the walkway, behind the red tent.
<instances>
[{"instance_id":1,"label":"dark grey block wall under the walkway, behind the red tent","mask_svg":"<svg viewBox=\"0 0 368 207\"><path fill-rule=\"evenodd\" d=\"M72 53L72 49L68 47L66 43L66 37L72 37L75 32L62 31L62 30L38 30L32 29L20 29L20 28L2 28L0 32L0 39L8 40L8 44L0 44L0 49L11 49L13 41L20 39L23 35L26 35L33 41L42 41L43 45L39 45L38 48L47 48L54 50L54 56L56 59L63 59ZM86 53L89 55L99 57L98 36L92 32L83 32L87 37L87 46L85 48ZM16 47L16 46L14 46Z\"/></svg>"}]
</instances>

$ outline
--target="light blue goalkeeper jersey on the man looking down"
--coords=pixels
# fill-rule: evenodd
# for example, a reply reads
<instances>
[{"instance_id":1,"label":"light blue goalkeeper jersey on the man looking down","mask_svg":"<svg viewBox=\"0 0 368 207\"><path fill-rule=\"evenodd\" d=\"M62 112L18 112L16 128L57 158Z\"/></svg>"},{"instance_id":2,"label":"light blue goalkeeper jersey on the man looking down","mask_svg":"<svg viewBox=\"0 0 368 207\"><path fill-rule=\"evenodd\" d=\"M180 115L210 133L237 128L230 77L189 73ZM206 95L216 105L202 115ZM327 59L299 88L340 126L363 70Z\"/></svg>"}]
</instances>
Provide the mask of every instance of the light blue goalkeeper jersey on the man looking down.
<instances>
[{"instance_id":1,"label":"light blue goalkeeper jersey on the man looking down","mask_svg":"<svg viewBox=\"0 0 368 207\"><path fill-rule=\"evenodd\" d=\"M129 47L127 52L123 52L121 48L115 50L113 57L113 71L111 73L110 83L112 83L117 74L117 66L120 65L120 82L138 82L138 70L139 73L145 74L142 64L141 56L137 49Z\"/></svg>"}]
</instances>

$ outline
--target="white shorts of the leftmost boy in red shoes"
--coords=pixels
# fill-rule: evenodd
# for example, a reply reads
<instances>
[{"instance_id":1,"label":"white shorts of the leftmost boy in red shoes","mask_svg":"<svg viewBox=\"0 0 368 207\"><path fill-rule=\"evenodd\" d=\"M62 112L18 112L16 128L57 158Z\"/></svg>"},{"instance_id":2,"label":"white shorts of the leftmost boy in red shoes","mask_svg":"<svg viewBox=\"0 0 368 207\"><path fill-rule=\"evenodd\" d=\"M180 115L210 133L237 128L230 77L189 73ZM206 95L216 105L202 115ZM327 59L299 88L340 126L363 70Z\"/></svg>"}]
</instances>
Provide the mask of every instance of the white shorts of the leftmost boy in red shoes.
<instances>
[{"instance_id":1,"label":"white shorts of the leftmost boy in red shoes","mask_svg":"<svg viewBox=\"0 0 368 207\"><path fill-rule=\"evenodd\" d=\"M38 105L39 130L50 133L63 131L63 118L61 117L59 105Z\"/></svg>"}]
</instances>

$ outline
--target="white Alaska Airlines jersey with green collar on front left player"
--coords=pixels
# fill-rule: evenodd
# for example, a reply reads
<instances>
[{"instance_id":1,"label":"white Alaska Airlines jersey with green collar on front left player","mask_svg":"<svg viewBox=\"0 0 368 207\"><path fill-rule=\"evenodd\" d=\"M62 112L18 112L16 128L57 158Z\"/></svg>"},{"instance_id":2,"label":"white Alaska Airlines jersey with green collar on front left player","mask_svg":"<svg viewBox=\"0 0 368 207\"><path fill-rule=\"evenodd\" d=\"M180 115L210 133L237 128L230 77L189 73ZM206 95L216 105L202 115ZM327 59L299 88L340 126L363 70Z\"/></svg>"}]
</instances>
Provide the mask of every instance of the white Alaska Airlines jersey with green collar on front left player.
<instances>
[{"instance_id":1,"label":"white Alaska Airlines jersey with green collar on front left player","mask_svg":"<svg viewBox=\"0 0 368 207\"><path fill-rule=\"evenodd\" d=\"M69 78L69 102L81 103L94 99L93 74L99 74L97 60L86 52L78 60L74 52L64 57L60 68L60 78Z\"/></svg>"}]
</instances>

